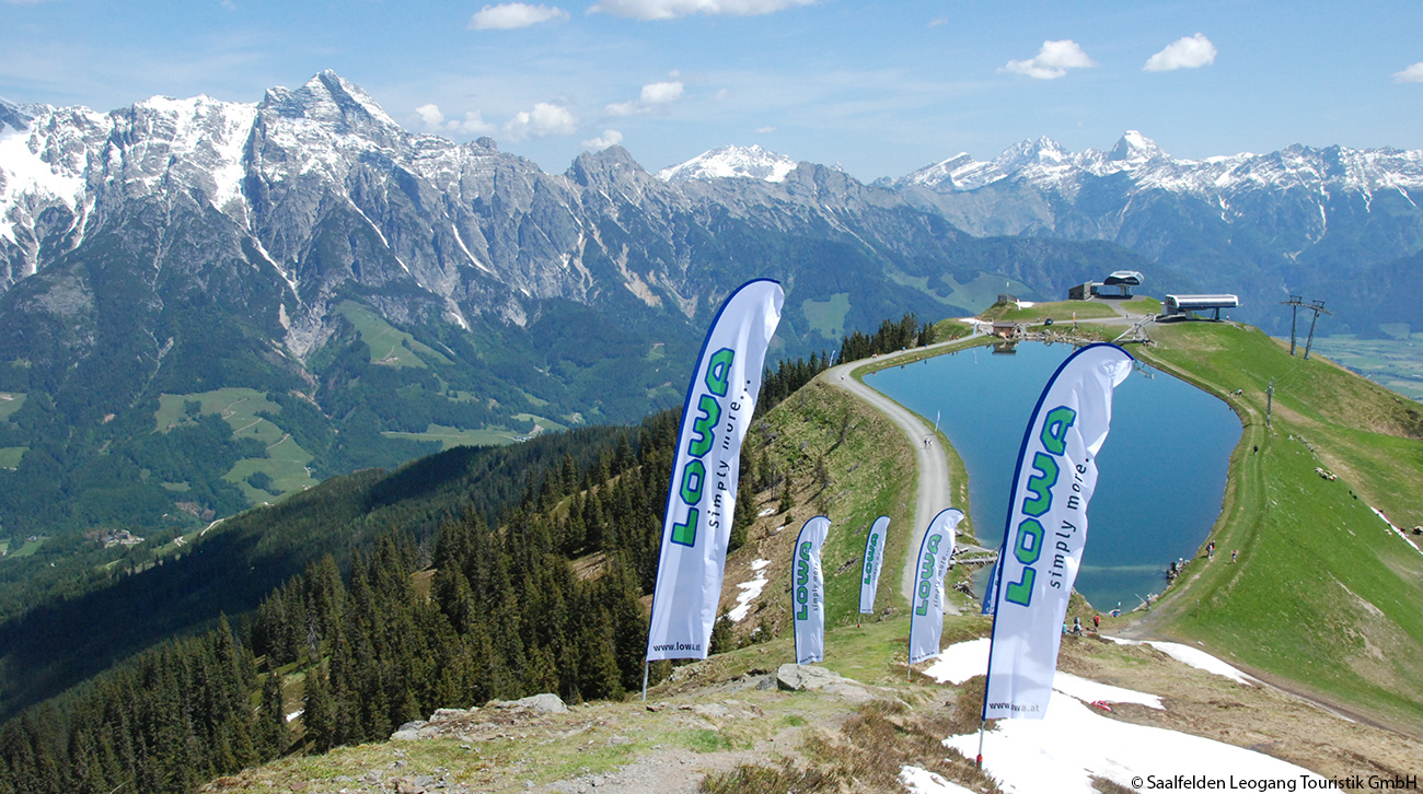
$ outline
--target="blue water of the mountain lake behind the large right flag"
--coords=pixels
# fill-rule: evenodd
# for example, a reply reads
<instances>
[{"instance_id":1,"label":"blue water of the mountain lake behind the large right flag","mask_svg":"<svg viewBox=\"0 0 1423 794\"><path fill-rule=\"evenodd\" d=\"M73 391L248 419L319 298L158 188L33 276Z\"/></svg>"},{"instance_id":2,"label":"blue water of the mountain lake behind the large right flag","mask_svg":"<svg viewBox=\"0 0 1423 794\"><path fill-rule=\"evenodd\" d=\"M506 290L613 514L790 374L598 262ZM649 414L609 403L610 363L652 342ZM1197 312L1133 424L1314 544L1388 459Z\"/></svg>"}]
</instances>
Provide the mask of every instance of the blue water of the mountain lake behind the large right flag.
<instances>
[{"instance_id":1,"label":"blue water of the mountain lake behind the large right flag","mask_svg":"<svg viewBox=\"0 0 1423 794\"><path fill-rule=\"evenodd\" d=\"M968 467L973 529L986 546L1003 542L1023 431L1072 351L1040 343L1013 353L975 347L865 379L931 423L939 417ZM1225 403L1165 373L1133 371L1117 387L1076 583L1093 606L1136 608L1165 586L1168 562L1197 552L1221 512L1239 435Z\"/></svg>"}]
</instances>

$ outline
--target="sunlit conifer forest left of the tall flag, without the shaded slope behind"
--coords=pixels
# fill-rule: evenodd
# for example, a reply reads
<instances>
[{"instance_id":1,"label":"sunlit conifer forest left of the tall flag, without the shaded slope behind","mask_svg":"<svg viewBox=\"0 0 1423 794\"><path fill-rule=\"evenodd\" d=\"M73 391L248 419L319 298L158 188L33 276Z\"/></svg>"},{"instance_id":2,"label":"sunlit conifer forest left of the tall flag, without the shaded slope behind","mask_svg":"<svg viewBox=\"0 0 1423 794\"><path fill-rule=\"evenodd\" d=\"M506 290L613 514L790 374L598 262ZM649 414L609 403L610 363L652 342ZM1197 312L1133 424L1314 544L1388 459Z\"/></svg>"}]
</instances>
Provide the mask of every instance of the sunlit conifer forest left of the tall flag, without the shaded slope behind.
<instances>
[{"instance_id":1,"label":"sunlit conifer forest left of the tall flag, without the shaded slope behind","mask_svg":"<svg viewBox=\"0 0 1423 794\"><path fill-rule=\"evenodd\" d=\"M857 357L861 346L902 347L905 332L928 342L914 317L881 332L855 343ZM768 370L760 410L828 364L817 354ZM0 793L186 793L286 753L384 740L441 707L539 692L622 697L642 680L642 596L656 579L677 420L666 411L636 428L568 434L561 457L515 455L519 477L485 478L502 497L444 494L441 504L462 507L433 538L420 528L440 511L424 504L384 514L390 525L364 541L306 542L324 554L255 609L165 640L9 720ZM753 515L747 489L768 477L747 458L733 548ZM351 504L366 509L400 505L428 491L424 481L461 482L443 467L499 467L480 460L445 452L333 489L360 489ZM522 492L509 492L517 482ZM297 700L300 719L287 720Z\"/></svg>"}]
</instances>

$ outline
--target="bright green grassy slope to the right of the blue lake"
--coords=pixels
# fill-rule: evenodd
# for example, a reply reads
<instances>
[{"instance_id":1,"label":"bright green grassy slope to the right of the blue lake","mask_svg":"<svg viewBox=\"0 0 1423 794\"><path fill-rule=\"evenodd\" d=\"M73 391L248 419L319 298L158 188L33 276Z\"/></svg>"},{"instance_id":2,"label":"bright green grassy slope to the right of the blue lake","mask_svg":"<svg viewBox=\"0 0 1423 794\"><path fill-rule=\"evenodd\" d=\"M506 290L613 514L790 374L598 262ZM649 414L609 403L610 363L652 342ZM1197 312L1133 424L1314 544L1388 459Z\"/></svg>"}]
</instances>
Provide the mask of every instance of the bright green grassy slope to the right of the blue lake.
<instances>
[{"instance_id":1,"label":"bright green grassy slope to the right of the blue lake","mask_svg":"<svg viewBox=\"0 0 1423 794\"><path fill-rule=\"evenodd\" d=\"M1369 509L1423 524L1407 487L1423 482L1423 410L1326 360L1291 359L1258 329L1184 323L1151 334L1158 346L1133 351L1228 398L1245 433L1211 534L1217 558L1165 596L1148 628L1423 736L1423 554ZM1190 454L1183 441L1175 454Z\"/></svg>"}]
</instances>

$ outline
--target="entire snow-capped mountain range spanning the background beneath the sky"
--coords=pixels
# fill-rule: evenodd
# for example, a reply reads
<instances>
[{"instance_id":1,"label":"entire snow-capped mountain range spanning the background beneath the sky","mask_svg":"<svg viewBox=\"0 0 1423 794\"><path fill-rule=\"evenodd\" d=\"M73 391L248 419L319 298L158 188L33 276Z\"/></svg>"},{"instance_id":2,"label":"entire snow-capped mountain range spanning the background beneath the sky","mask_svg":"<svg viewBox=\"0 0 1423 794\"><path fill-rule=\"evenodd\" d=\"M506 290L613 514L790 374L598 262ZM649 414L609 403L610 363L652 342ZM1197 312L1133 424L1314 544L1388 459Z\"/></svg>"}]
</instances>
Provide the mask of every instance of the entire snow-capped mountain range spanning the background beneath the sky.
<instances>
[{"instance_id":1,"label":"entire snow-capped mountain range spanning the background beneath the sky","mask_svg":"<svg viewBox=\"0 0 1423 794\"><path fill-rule=\"evenodd\" d=\"M874 185L754 147L657 175L613 147L546 174L488 138L406 131L329 71L252 104L0 101L0 391L44 396L0 418L6 460L23 454L0 468L0 522L246 504L228 467L252 450L166 475L186 491L144 474L171 457L165 394L282 401L269 421L317 475L394 465L434 425L633 420L682 398L682 359L751 277L787 287L790 356L968 313L1005 280L1047 299L1118 269L1239 292L1265 320L1276 296L1366 275L1383 297L1350 317L1331 286L1333 322L1423 326L1403 299L1423 270L1419 166L1303 147L1187 162L1128 134ZM98 472L121 498L74 501Z\"/></svg>"}]
</instances>

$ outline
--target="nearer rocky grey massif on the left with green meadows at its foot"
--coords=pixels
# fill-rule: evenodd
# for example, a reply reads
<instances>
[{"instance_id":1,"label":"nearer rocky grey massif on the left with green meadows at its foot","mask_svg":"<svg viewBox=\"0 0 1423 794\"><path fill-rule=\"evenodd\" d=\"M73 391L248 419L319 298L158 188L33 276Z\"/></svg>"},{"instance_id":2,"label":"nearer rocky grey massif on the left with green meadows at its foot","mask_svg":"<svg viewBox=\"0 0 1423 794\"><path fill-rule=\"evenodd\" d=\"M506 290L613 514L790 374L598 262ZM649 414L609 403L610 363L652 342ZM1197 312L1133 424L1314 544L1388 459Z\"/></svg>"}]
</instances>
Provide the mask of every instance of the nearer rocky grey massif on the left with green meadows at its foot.
<instances>
[{"instance_id":1,"label":"nearer rocky grey massif on the left with green meadows at its foot","mask_svg":"<svg viewBox=\"0 0 1423 794\"><path fill-rule=\"evenodd\" d=\"M191 524L441 444L638 418L679 403L751 277L787 287L774 359L1143 265L975 239L764 149L546 174L408 132L330 71L252 104L0 120L0 535Z\"/></svg>"}]
</instances>

